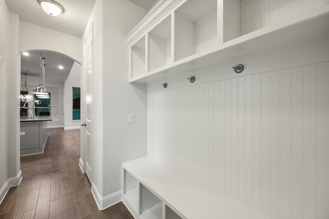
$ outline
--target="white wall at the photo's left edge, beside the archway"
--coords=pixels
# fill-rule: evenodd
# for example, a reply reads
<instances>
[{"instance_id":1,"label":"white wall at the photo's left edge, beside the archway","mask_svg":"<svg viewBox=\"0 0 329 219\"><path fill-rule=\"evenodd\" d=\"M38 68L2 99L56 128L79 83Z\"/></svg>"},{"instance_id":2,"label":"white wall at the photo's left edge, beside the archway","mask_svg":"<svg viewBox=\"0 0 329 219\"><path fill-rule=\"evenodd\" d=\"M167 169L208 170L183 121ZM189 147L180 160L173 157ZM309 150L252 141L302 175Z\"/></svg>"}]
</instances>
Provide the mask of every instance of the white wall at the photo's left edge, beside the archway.
<instances>
[{"instance_id":1,"label":"white wall at the photo's left edge, beside the archway","mask_svg":"<svg viewBox=\"0 0 329 219\"><path fill-rule=\"evenodd\" d=\"M8 11L5 1L0 1L0 202L9 187L19 184L19 72L18 50L19 17ZM10 92L9 92L10 88Z\"/></svg>"}]
</instances>

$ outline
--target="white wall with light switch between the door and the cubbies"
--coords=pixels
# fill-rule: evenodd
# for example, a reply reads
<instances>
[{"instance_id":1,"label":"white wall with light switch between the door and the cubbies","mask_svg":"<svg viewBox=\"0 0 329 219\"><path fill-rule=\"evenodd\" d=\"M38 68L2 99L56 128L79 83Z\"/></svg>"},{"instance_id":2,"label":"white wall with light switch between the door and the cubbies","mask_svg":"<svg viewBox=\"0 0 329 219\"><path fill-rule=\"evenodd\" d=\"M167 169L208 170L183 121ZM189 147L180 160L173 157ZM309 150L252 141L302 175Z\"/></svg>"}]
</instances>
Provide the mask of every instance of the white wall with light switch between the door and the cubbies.
<instances>
[{"instance_id":1,"label":"white wall with light switch between the door and the cubbies","mask_svg":"<svg viewBox=\"0 0 329 219\"><path fill-rule=\"evenodd\" d=\"M104 1L104 191L121 190L121 164L147 154L145 85L128 83L129 53L124 37L146 11L130 1ZM135 113L135 123L128 114Z\"/></svg>"}]
</instances>

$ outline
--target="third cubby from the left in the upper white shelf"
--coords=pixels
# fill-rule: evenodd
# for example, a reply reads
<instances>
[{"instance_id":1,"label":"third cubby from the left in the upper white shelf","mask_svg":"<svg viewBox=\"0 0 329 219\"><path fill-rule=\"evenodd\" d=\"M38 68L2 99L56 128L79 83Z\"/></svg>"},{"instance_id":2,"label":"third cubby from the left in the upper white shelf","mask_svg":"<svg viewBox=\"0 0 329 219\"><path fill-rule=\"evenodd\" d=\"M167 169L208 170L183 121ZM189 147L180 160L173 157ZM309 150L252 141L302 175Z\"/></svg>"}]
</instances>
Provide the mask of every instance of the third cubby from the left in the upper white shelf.
<instances>
[{"instance_id":1,"label":"third cubby from the left in the upper white shelf","mask_svg":"<svg viewBox=\"0 0 329 219\"><path fill-rule=\"evenodd\" d=\"M187 1L174 20L175 61L217 46L217 0Z\"/></svg>"}]
</instances>

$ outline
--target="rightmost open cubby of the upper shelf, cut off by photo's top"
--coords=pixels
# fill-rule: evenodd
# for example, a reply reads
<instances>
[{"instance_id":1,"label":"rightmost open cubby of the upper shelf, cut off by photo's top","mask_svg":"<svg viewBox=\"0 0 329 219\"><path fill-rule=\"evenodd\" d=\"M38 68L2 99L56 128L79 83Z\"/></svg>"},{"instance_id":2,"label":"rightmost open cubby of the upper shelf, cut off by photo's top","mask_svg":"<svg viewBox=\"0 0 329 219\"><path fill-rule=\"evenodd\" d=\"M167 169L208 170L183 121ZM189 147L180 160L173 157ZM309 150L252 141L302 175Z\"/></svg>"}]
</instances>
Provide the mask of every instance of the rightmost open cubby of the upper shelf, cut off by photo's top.
<instances>
[{"instance_id":1,"label":"rightmost open cubby of the upper shelf, cut off by photo's top","mask_svg":"<svg viewBox=\"0 0 329 219\"><path fill-rule=\"evenodd\" d=\"M326 1L250 1L223 0L223 42L257 31L259 29L284 24L288 19L324 5ZM218 2L218 4L220 4ZM223 11L222 11L223 10Z\"/></svg>"}]
</instances>

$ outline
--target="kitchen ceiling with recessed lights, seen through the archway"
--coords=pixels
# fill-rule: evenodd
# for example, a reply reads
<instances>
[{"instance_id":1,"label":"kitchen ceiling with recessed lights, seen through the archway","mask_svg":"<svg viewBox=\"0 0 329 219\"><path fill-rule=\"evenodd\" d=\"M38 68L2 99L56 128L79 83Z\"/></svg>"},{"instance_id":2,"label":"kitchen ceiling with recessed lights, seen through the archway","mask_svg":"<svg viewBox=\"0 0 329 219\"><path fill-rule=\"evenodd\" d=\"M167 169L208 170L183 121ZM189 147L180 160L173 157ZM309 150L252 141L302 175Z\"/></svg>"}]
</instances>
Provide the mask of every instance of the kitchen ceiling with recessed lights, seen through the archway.
<instances>
[{"instance_id":1,"label":"kitchen ceiling with recessed lights, seen through the archway","mask_svg":"<svg viewBox=\"0 0 329 219\"><path fill-rule=\"evenodd\" d=\"M74 61L59 53L42 51L45 66L45 78L64 81L71 71ZM61 65L64 68L59 69ZM21 55L21 74L40 77L40 51L29 52L28 56Z\"/></svg>"}]
</instances>

